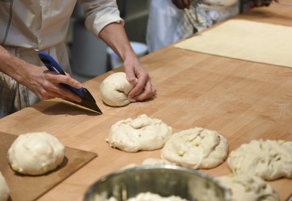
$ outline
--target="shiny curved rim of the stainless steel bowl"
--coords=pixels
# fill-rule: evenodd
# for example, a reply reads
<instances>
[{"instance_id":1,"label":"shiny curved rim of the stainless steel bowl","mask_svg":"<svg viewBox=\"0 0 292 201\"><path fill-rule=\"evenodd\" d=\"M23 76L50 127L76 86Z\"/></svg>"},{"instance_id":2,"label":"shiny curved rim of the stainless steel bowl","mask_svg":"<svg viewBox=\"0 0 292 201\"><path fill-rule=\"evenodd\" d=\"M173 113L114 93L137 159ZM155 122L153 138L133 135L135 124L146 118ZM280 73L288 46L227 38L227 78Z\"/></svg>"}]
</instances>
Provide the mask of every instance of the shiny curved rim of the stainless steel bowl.
<instances>
[{"instance_id":1,"label":"shiny curved rim of the stainless steel bowl","mask_svg":"<svg viewBox=\"0 0 292 201\"><path fill-rule=\"evenodd\" d=\"M94 189L96 188L96 186L98 186L100 183L102 183L110 178L115 177L116 175L127 174L127 172L137 172L137 171L149 170L149 169L174 169L174 170L178 170L178 171L184 171L184 172L189 172L192 174L199 175L201 177L206 178L207 180L209 180L211 182L214 182L219 188L221 188L223 190L225 201L232 200L229 189L227 189L223 184L221 184L221 182L219 180L217 180L216 177L213 177L207 173L204 173L204 172L201 172L198 170L194 170L191 168L177 166L177 165L140 165L140 166L136 166L133 168L120 169L120 170L114 171L112 173L109 173L109 174L101 177L98 181L96 181L94 184L92 184L88 188L88 190L86 191L85 196L84 196L84 201L89 201L89 197L94 192Z\"/></svg>"}]
</instances>

